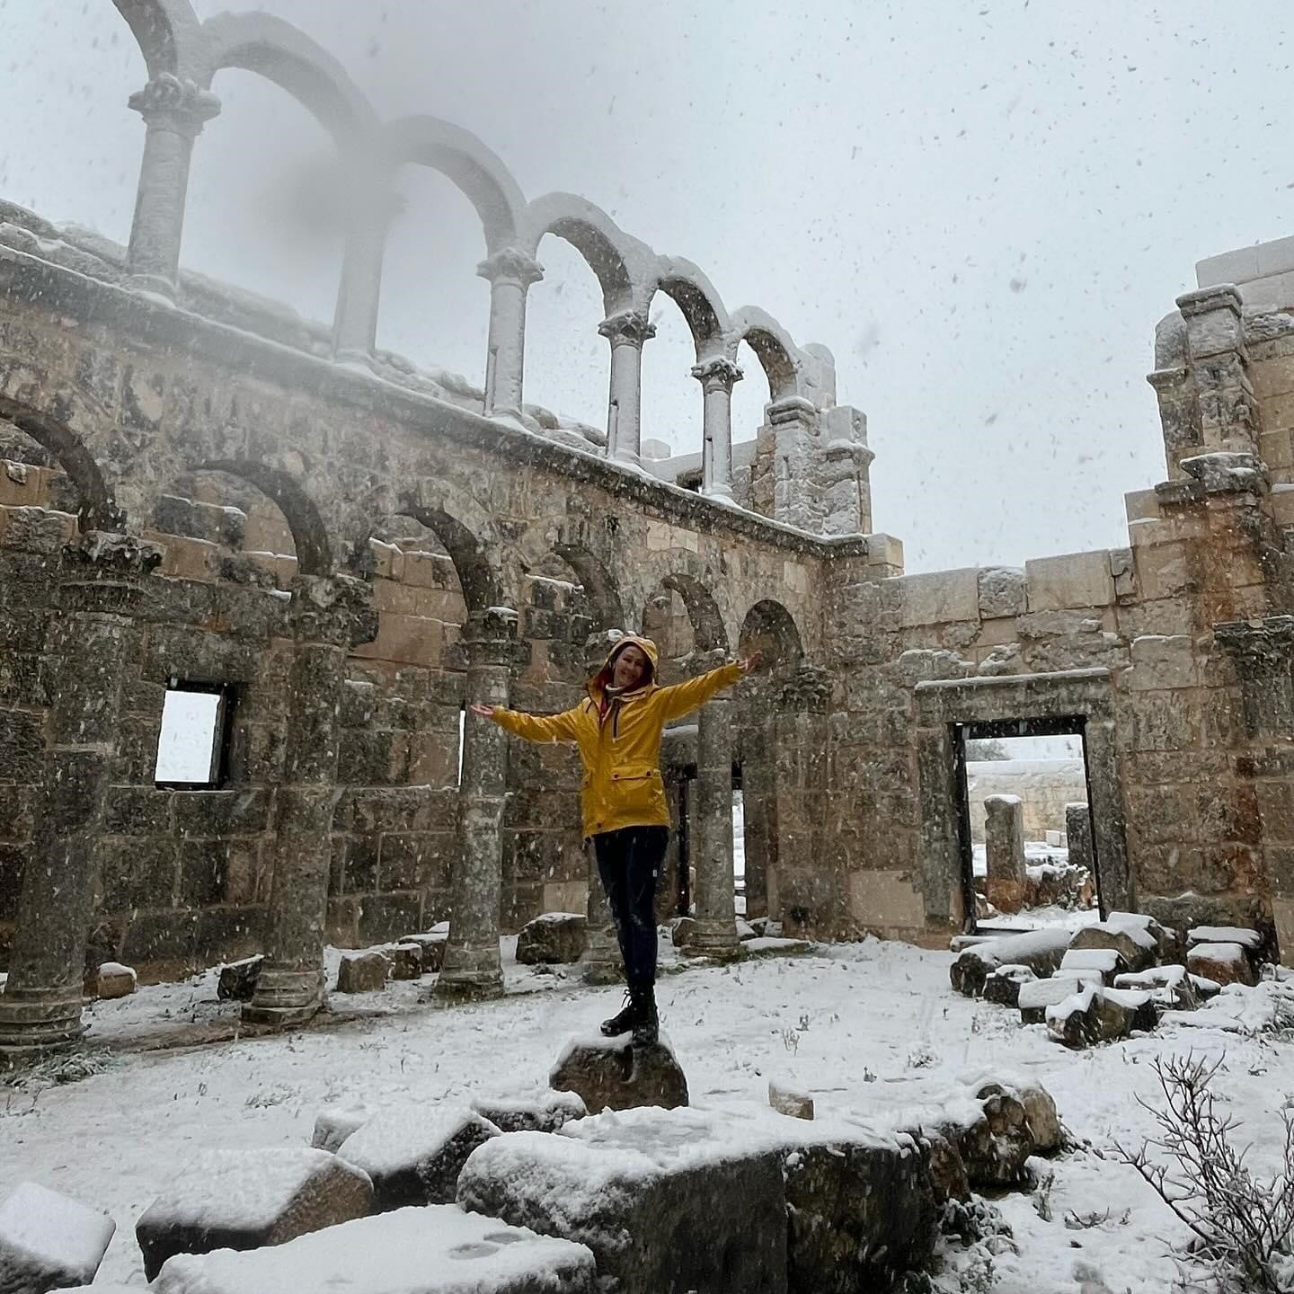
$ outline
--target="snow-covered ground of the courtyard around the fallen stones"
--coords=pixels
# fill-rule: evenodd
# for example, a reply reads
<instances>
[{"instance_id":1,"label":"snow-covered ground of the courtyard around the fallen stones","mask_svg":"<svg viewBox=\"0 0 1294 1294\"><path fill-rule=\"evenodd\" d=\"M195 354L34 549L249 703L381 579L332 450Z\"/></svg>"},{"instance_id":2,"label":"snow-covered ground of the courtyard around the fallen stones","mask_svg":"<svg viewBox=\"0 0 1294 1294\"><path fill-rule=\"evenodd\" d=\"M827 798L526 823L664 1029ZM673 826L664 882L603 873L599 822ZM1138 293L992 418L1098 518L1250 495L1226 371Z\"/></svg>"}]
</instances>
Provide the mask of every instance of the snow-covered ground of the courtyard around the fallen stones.
<instances>
[{"instance_id":1,"label":"snow-covered ground of the courtyard around the fallen stones","mask_svg":"<svg viewBox=\"0 0 1294 1294\"><path fill-rule=\"evenodd\" d=\"M1115 1140L1135 1145L1150 1130L1135 1100L1156 1095L1150 1061L1224 1053L1225 1108L1256 1143L1254 1168L1269 1172L1277 1109L1294 1104L1294 1043L1231 1031L1228 1020L1219 1024L1229 1029L1170 1022L1153 1036L1068 1052L1043 1026L1022 1027L1016 1012L955 995L949 963L947 952L868 939L668 974L659 998L699 1106L763 1101L776 1079L811 1092L824 1115L854 1110L893 1124L968 1078L1042 1082L1090 1149L1052 1162L1042 1211L1038 1196L998 1201L1020 1253L995 1256L982 1288L1078 1294L1082 1277L1100 1273L1115 1294L1162 1294L1175 1275L1166 1245L1181 1228L1110 1158ZM214 1003L212 973L98 1003L89 1043L128 1048L102 1073L39 1092L0 1087L0 1198L32 1179L110 1210L118 1232L100 1280L142 1282L135 1222L172 1167L197 1152L308 1145L329 1102L466 1102L533 1087L571 1034L587 1033L620 1004L616 989L580 987L559 973L523 977L523 969L510 964L509 974L529 991L499 1002L439 1009L418 1004L418 985L392 985L335 999L339 1009L370 1014L333 1027L167 1051L138 1048L159 1030L182 1034L193 1020L236 1014Z\"/></svg>"}]
</instances>

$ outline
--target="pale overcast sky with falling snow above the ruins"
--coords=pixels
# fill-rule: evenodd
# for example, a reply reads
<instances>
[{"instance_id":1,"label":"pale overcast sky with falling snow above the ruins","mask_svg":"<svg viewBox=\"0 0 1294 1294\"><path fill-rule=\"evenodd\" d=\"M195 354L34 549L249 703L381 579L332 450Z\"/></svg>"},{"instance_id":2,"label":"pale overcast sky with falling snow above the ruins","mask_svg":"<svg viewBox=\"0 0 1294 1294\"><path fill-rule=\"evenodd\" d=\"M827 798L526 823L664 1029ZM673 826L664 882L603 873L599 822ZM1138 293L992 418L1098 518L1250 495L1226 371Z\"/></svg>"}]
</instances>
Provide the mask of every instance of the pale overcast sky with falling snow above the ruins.
<instances>
[{"instance_id":1,"label":"pale overcast sky with falling snow above the ruins","mask_svg":"<svg viewBox=\"0 0 1294 1294\"><path fill-rule=\"evenodd\" d=\"M198 3L199 17L221 4ZM1126 542L1161 480L1156 321L1205 256L1294 233L1289 0L272 0L379 114L479 135L527 197L584 194L835 356L868 417L875 527L910 571ZM110 0L0 0L0 194L122 242L144 62ZM292 195L327 146L237 71L194 154L184 263L331 318L339 251ZM379 343L480 380L466 198L402 176ZM546 238L527 397L606 419L600 296ZM657 298L644 436L700 448ZM738 440L767 386L749 352Z\"/></svg>"}]
</instances>

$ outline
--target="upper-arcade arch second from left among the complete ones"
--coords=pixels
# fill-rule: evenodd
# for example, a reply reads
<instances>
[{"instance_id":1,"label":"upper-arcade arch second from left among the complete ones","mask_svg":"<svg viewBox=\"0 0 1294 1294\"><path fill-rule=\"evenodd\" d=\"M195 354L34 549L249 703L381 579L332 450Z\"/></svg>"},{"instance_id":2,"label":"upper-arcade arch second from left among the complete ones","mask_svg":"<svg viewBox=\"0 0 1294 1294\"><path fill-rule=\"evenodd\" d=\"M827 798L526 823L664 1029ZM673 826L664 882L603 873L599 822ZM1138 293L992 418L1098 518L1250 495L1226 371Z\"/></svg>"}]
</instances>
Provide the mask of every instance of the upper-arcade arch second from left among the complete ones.
<instances>
[{"instance_id":1,"label":"upper-arcade arch second from left among the complete ones","mask_svg":"<svg viewBox=\"0 0 1294 1294\"><path fill-rule=\"evenodd\" d=\"M431 167L462 189L481 219L490 255L516 243L525 198L502 159L475 135L435 116L405 116L383 127L382 140L392 168Z\"/></svg>"}]
</instances>

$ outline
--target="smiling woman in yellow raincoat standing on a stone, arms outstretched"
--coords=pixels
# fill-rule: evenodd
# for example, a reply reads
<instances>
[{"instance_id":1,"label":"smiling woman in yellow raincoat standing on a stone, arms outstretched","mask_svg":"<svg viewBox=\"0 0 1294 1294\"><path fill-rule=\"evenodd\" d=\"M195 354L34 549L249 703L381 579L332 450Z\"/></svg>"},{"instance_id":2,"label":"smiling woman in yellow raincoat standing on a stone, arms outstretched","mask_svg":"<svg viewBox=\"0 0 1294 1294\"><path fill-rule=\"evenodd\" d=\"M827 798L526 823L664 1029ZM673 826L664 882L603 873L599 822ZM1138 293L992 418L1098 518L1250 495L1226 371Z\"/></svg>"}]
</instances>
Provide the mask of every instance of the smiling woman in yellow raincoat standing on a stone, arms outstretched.
<instances>
[{"instance_id":1,"label":"smiling woman in yellow raincoat standing on a stone, arms outstretched","mask_svg":"<svg viewBox=\"0 0 1294 1294\"><path fill-rule=\"evenodd\" d=\"M634 1042L660 1035L656 1014L656 881L669 842L669 805L660 775L660 739L670 719L704 705L760 661L722 665L673 687L656 686L656 644L621 638L589 683L589 695L560 714L523 714L502 705L474 705L527 741L575 741L584 763L581 809L593 839L598 875L625 963L629 1000L603 1021L608 1038L633 1031Z\"/></svg>"}]
</instances>

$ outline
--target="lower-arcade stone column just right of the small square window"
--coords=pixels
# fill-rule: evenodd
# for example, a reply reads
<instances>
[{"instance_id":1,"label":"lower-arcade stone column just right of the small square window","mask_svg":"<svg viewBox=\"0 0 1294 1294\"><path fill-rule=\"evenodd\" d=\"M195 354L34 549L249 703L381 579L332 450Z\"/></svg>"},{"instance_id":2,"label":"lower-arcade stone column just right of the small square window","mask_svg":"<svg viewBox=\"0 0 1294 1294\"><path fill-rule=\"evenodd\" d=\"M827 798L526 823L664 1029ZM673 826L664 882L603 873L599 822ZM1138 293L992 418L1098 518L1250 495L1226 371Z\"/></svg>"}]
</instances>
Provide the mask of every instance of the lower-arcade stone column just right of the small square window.
<instances>
[{"instance_id":1,"label":"lower-arcade stone column just right of the small square window","mask_svg":"<svg viewBox=\"0 0 1294 1294\"><path fill-rule=\"evenodd\" d=\"M274 879L265 960L242 1018L296 1025L324 1004L339 712L349 648L378 631L373 591L352 576L298 576L283 780L274 791Z\"/></svg>"}]
</instances>

